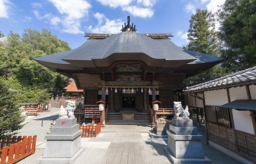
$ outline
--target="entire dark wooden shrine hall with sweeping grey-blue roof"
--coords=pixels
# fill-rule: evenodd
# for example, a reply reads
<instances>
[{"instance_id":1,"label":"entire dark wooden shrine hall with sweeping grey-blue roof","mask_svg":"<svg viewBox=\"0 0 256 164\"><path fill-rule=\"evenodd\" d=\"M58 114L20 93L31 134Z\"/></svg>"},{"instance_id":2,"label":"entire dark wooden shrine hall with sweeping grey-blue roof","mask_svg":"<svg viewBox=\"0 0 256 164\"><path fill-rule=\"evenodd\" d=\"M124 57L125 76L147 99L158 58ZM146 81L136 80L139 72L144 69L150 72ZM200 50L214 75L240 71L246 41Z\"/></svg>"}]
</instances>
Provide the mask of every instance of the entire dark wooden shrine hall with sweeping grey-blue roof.
<instances>
[{"instance_id":1,"label":"entire dark wooden shrine hall with sweeping grey-blue roof","mask_svg":"<svg viewBox=\"0 0 256 164\"><path fill-rule=\"evenodd\" d=\"M85 37L77 49L34 59L84 90L84 105L75 110L80 123L155 124L160 116L174 115L173 90L181 88L184 78L223 60L175 46L173 33L136 33L130 17L120 33ZM151 109L155 99L161 102L157 112ZM103 112L98 111L99 100L105 103Z\"/></svg>"}]
</instances>

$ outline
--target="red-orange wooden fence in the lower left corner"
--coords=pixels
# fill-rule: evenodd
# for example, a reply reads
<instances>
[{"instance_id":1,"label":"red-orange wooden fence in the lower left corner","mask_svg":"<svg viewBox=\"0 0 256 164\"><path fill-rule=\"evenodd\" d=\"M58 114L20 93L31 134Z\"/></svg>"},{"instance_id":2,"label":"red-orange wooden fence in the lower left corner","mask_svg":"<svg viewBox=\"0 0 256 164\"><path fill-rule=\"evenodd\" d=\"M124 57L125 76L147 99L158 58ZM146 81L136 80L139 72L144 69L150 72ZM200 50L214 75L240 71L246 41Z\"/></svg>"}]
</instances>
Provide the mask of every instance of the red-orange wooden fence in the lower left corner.
<instances>
[{"instance_id":1,"label":"red-orange wooden fence in the lower left corner","mask_svg":"<svg viewBox=\"0 0 256 164\"><path fill-rule=\"evenodd\" d=\"M24 136L22 141L17 144L11 144L10 147L4 147L0 150L0 164L12 164L24 159L36 150L37 136Z\"/></svg>"}]
</instances>

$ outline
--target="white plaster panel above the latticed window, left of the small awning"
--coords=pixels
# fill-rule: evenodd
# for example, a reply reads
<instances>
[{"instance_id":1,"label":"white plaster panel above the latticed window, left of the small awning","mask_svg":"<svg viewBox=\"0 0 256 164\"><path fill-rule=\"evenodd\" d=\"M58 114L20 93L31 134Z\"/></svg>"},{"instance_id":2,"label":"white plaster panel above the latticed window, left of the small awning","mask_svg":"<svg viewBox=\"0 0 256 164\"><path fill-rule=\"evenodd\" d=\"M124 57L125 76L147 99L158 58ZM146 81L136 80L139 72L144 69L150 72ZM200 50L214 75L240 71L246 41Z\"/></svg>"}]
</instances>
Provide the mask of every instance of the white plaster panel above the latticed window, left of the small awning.
<instances>
[{"instance_id":1,"label":"white plaster panel above the latticed window, left of the small awning","mask_svg":"<svg viewBox=\"0 0 256 164\"><path fill-rule=\"evenodd\" d=\"M206 106L222 106L229 103L226 89L204 92Z\"/></svg>"}]
</instances>

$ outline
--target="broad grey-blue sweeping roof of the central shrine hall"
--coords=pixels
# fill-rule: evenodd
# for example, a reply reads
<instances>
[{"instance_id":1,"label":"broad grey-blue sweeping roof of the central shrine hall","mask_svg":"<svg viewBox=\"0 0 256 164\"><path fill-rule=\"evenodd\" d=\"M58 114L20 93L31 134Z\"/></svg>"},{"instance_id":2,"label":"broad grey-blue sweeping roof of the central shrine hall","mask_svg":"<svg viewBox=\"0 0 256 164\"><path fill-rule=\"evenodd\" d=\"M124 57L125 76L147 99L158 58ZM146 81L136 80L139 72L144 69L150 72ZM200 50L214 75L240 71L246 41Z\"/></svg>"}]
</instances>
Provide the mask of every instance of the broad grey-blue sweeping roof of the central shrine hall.
<instances>
[{"instance_id":1,"label":"broad grey-blue sweeping roof of the central shrine hall","mask_svg":"<svg viewBox=\"0 0 256 164\"><path fill-rule=\"evenodd\" d=\"M192 60L189 64L221 61L223 59L181 49L169 39L152 39L139 33L123 32L106 39L89 39L77 49L46 55L35 58L35 60L69 65L69 60L91 61L91 59L107 58L114 53L144 53L151 58L170 61Z\"/></svg>"}]
</instances>

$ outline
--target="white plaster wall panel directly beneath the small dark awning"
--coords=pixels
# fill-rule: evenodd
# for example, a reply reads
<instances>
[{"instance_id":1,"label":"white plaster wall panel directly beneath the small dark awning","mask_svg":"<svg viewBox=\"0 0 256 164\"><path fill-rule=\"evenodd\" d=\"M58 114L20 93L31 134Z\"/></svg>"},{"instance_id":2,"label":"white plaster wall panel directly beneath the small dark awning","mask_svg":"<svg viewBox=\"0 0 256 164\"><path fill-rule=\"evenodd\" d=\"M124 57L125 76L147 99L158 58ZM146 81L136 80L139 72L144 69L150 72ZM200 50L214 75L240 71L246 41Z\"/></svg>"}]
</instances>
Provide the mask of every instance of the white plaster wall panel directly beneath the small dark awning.
<instances>
[{"instance_id":1,"label":"white plaster wall panel directly beneath the small dark awning","mask_svg":"<svg viewBox=\"0 0 256 164\"><path fill-rule=\"evenodd\" d=\"M238 111L232 109L235 129L254 134L250 111Z\"/></svg>"}]
</instances>

